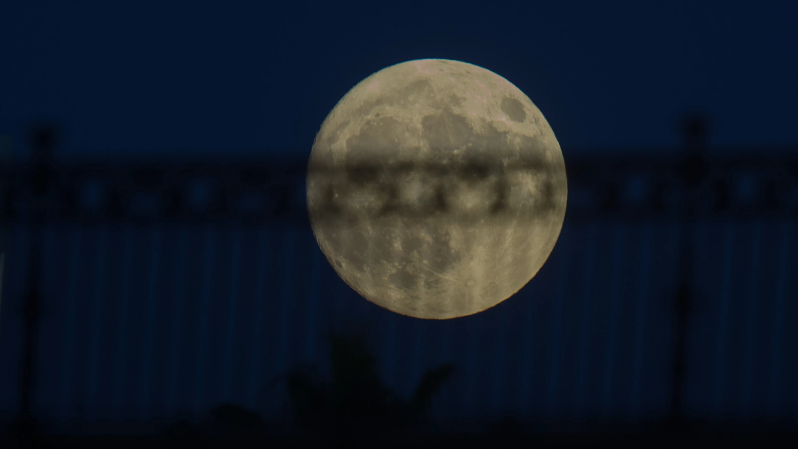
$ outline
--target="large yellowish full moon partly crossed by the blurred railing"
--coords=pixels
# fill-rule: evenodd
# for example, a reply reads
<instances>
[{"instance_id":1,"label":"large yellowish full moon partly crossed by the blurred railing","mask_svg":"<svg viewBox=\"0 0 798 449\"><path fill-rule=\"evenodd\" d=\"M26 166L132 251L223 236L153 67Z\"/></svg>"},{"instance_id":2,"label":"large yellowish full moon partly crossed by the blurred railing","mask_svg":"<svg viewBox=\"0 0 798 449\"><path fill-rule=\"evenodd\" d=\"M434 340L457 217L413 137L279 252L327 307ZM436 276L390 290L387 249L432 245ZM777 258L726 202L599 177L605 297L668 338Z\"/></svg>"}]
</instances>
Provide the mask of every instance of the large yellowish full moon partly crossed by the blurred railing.
<instances>
[{"instance_id":1,"label":"large yellowish full moon partly crossed by the blurred railing","mask_svg":"<svg viewBox=\"0 0 798 449\"><path fill-rule=\"evenodd\" d=\"M494 169L460 170L468 163ZM461 61L373 73L326 117L310 153L307 206L322 252L363 297L412 317L462 317L511 297L551 254L566 199L543 114L503 77Z\"/></svg>"}]
</instances>

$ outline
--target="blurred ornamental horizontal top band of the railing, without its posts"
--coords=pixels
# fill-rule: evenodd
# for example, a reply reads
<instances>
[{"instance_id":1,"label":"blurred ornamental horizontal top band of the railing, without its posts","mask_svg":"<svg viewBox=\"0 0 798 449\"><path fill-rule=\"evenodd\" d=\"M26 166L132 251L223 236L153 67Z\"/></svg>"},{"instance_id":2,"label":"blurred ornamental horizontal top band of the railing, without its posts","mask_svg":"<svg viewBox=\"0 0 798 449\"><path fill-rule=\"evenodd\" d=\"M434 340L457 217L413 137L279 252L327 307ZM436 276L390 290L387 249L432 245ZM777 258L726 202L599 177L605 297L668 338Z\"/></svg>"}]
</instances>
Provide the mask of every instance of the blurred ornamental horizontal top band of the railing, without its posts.
<instances>
[{"instance_id":1,"label":"blurred ornamental horizontal top band of the railing, without its posts","mask_svg":"<svg viewBox=\"0 0 798 449\"><path fill-rule=\"evenodd\" d=\"M749 152L713 158L568 158L566 167L569 221L602 217L670 220L681 219L685 213L722 219L798 216L798 151L781 156ZM445 179L473 178L474 173L484 173L476 176L484 181L480 188L487 195L484 204L489 213L503 196L501 190L512 187L508 178L513 171L530 170L493 168L470 166L454 172L443 166L423 167L421 172L429 174L427 179L436 184L433 187L443 197L438 203L442 206L433 205L427 210L451 213L445 210L445 205L452 203L447 199L463 195L463 183L446 183ZM329 177L330 189L342 192L337 201L344 207L338 207L338 211L345 213L346 205L363 195L378 196L401 189L397 176L353 181L354 174L362 171L363 167L359 167ZM47 222L84 223L306 221L307 173L303 160L237 164L34 163L5 167L0 172L0 220L25 223L38 216ZM539 173L547 176L545 170ZM547 191L551 189L543 188L537 195L546 195ZM687 197L691 199L688 201ZM694 203L693 211L685 206L690 202Z\"/></svg>"}]
</instances>

